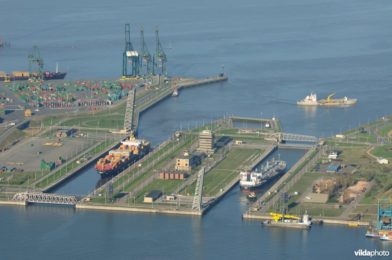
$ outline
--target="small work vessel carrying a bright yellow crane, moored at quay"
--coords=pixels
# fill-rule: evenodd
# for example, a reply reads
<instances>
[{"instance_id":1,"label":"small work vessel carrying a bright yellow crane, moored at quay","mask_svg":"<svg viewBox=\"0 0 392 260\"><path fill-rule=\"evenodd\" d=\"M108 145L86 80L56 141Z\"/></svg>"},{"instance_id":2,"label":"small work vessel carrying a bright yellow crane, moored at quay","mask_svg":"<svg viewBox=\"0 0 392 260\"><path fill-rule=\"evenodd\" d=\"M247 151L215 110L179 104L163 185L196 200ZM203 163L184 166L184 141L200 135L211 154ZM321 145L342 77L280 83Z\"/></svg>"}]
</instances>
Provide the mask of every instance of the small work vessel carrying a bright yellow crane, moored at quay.
<instances>
[{"instance_id":1,"label":"small work vessel carrying a bright yellow crane, moored at quay","mask_svg":"<svg viewBox=\"0 0 392 260\"><path fill-rule=\"evenodd\" d=\"M312 221L309 218L307 212L305 212L302 217L296 217L293 215L284 215L270 213L272 215L273 220L265 220L262 224L263 226L276 226L276 227L287 227L287 228L305 228L309 229L312 226Z\"/></svg>"}]
</instances>

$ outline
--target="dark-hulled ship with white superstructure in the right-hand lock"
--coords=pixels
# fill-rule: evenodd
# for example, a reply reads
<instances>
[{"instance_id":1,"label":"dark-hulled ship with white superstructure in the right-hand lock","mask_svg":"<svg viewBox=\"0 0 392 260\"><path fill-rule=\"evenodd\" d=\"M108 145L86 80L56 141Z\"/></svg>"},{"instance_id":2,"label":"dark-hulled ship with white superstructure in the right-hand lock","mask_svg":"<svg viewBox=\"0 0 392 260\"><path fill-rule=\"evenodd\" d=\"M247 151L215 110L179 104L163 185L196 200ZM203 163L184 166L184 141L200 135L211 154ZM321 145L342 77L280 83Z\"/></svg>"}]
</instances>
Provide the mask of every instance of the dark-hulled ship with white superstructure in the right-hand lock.
<instances>
[{"instance_id":1,"label":"dark-hulled ship with white superstructure in the right-hand lock","mask_svg":"<svg viewBox=\"0 0 392 260\"><path fill-rule=\"evenodd\" d=\"M251 191L261 189L265 184L270 183L277 177L282 176L286 172L286 162L275 161L272 158L261 171L241 171L240 173L240 190Z\"/></svg>"}]
</instances>

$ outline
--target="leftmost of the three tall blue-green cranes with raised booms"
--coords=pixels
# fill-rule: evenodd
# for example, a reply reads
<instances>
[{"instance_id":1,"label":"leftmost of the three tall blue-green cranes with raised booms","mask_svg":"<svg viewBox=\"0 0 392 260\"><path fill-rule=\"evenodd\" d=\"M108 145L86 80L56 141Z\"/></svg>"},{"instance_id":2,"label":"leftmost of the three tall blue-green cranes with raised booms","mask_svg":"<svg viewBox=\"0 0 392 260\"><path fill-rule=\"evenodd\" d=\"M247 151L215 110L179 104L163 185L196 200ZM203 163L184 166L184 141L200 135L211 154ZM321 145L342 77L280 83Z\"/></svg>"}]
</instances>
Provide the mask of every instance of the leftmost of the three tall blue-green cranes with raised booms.
<instances>
[{"instance_id":1,"label":"leftmost of the three tall blue-green cranes with raised booms","mask_svg":"<svg viewBox=\"0 0 392 260\"><path fill-rule=\"evenodd\" d=\"M131 65L132 71L128 71L128 65ZM123 76L136 77L139 75L139 53L133 49L129 24L125 24L125 49L123 52Z\"/></svg>"}]
</instances>

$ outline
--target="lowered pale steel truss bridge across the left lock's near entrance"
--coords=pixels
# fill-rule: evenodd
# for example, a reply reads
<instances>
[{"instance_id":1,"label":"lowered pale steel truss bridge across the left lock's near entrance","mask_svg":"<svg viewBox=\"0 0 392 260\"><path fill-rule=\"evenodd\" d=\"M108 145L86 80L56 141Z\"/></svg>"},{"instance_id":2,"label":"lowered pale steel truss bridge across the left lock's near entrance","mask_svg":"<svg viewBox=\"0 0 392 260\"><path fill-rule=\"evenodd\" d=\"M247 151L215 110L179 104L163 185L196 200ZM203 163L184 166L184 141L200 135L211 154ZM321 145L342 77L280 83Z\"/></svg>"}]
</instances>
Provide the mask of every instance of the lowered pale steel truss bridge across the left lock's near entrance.
<instances>
[{"instance_id":1,"label":"lowered pale steel truss bridge across the left lock's near entrance","mask_svg":"<svg viewBox=\"0 0 392 260\"><path fill-rule=\"evenodd\" d=\"M52 203L52 204L77 204L77 200L73 196L65 196L59 194L41 193L25 191L14 195L12 200L28 201L36 203Z\"/></svg>"}]
</instances>

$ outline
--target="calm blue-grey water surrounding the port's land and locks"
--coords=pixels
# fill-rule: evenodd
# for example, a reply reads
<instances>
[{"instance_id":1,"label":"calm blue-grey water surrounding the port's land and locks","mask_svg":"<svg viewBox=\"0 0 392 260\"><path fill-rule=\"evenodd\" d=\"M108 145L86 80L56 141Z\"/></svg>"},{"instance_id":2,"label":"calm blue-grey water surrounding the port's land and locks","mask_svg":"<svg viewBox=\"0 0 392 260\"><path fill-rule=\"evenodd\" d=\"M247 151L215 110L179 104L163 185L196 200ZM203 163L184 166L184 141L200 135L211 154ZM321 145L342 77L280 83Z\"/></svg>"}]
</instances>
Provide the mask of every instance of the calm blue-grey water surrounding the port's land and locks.
<instances>
[{"instance_id":1,"label":"calm blue-grey water surrounding the port's land and locks","mask_svg":"<svg viewBox=\"0 0 392 260\"><path fill-rule=\"evenodd\" d=\"M275 117L284 132L330 137L391 114L391 10L389 0L0 0L0 35L10 43L0 48L0 71L27 71L26 55L37 45L47 71L58 62L69 79L120 77L124 24L135 50L143 24L151 53L158 24L162 46L172 43L165 49L169 75L203 78L224 69L229 80L186 89L150 109L139 138L158 145L225 114ZM297 106L311 91L358 102ZM292 165L303 151L279 153ZM86 194L97 175L88 169L57 192ZM1 206L1 256L350 259L359 249L391 251L391 243L366 238L363 227L261 227L241 219L247 203L235 187L203 217Z\"/></svg>"}]
</instances>

